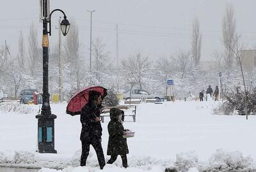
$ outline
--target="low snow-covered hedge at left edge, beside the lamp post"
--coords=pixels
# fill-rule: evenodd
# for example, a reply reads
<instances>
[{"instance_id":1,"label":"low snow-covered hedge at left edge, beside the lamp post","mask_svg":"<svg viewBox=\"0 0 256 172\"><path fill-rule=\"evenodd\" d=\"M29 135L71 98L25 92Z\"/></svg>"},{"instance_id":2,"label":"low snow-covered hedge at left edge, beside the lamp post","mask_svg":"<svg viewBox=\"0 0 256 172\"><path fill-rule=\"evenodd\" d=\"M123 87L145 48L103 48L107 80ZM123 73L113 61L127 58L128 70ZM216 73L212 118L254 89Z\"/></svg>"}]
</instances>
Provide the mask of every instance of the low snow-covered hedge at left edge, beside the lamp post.
<instances>
[{"instance_id":1,"label":"low snow-covered hedge at left edge, beside the lamp post","mask_svg":"<svg viewBox=\"0 0 256 172\"><path fill-rule=\"evenodd\" d=\"M0 104L0 111L8 113L30 114L38 111L38 106L20 104L19 102L3 102Z\"/></svg>"}]
</instances>

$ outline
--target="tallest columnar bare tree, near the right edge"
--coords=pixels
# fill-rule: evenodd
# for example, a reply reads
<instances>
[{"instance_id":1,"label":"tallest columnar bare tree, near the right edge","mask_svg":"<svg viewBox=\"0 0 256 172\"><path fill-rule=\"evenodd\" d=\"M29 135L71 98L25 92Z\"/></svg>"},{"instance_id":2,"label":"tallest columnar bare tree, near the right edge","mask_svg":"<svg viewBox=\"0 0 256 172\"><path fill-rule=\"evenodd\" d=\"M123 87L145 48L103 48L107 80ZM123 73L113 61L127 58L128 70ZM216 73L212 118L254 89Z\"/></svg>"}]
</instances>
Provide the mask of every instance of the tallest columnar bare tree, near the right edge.
<instances>
[{"instance_id":1,"label":"tallest columnar bare tree, near the right edge","mask_svg":"<svg viewBox=\"0 0 256 172\"><path fill-rule=\"evenodd\" d=\"M225 63L230 69L234 63L234 42L236 34L236 19L234 17L234 6L227 4L225 16L222 21L222 42L225 46Z\"/></svg>"}]
</instances>

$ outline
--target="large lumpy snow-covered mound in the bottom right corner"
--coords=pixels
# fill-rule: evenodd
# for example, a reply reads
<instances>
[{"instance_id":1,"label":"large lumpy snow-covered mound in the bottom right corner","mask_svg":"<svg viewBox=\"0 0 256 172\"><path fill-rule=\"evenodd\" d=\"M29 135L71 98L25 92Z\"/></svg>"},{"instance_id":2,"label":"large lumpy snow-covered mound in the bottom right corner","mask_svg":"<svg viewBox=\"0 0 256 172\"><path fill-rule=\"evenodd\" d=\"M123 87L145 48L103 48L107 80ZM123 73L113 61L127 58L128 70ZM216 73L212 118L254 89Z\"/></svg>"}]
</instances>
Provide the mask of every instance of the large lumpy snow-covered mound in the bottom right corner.
<instances>
[{"instance_id":1,"label":"large lumpy snow-covered mound in the bottom right corner","mask_svg":"<svg viewBox=\"0 0 256 172\"><path fill-rule=\"evenodd\" d=\"M219 149L209 159L209 165L202 168L204 172L212 171L255 171L251 157L243 157L241 152L228 152Z\"/></svg>"}]
</instances>

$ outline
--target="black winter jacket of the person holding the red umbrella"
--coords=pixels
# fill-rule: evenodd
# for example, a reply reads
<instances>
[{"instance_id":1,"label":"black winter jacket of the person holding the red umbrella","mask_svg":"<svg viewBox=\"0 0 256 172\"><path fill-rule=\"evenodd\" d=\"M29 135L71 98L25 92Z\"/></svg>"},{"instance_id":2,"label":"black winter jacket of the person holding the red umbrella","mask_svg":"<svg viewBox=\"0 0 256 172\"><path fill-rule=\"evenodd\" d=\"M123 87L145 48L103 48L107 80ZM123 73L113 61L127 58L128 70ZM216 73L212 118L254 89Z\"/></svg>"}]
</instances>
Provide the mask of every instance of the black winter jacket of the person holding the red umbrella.
<instances>
[{"instance_id":1,"label":"black winter jacket of the person holding the red umbrella","mask_svg":"<svg viewBox=\"0 0 256 172\"><path fill-rule=\"evenodd\" d=\"M100 107L88 103L82 108L80 116L80 121L82 123L80 135L81 141L101 139L102 127L100 121L95 122L96 117L100 117Z\"/></svg>"}]
</instances>

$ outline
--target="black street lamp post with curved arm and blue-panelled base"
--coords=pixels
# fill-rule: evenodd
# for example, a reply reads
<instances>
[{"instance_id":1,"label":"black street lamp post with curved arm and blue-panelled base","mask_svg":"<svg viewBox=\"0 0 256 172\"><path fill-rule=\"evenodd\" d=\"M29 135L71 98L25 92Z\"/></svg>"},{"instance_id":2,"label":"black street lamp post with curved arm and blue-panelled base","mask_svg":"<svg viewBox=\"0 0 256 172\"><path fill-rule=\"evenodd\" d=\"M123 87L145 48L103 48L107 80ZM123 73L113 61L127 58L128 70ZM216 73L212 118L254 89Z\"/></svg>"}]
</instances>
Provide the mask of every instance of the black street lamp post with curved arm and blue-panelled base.
<instances>
[{"instance_id":1,"label":"black street lamp post with curved arm and blue-panelled base","mask_svg":"<svg viewBox=\"0 0 256 172\"><path fill-rule=\"evenodd\" d=\"M67 20L65 13L56 9L53 10L49 17L48 15L48 3L49 0L43 0L42 10L43 10L43 38L42 38L42 48L43 48L43 93L42 93L42 109L41 114L36 115L38 119L38 152L40 153L57 153L54 149L54 119L57 118L55 114L51 114L51 107L49 101L49 84L48 84L48 61L49 61L49 38L48 33L51 36L51 15L55 11L60 11L64 15L64 19L61 22L61 31L63 35L67 35L70 23ZM47 25L49 23L49 31Z\"/></svg>"}]
</instances>

